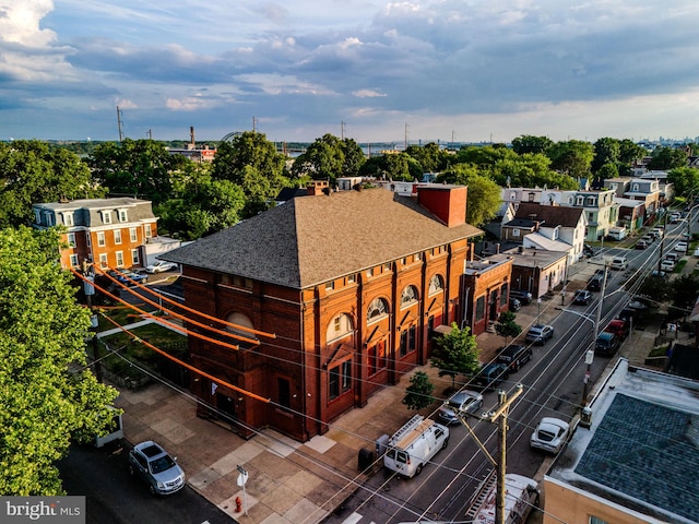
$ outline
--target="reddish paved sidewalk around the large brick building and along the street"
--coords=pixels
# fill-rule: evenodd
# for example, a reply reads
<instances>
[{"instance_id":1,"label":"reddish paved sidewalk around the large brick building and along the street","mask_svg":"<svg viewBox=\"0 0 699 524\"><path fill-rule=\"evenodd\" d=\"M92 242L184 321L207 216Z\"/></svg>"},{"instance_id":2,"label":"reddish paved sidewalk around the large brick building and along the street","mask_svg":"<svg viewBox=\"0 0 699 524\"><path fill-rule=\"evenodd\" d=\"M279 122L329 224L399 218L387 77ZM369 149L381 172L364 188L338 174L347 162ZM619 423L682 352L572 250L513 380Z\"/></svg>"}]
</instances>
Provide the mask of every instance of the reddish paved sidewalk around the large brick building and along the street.
<instances>
[{"instance_id":1,"label":"reddish paved sidewalk around the large brick building and along the street","mask_svg":"<svg viewBox=\"0 0 699 524\"><path fill-rule=\"evenodd\" d=\"M576 288L584 287L585 271L583 267L579 276L571 277L566 303ZM592 271L590 266L589 272ZM560 313L556 309L560 303L560 295L544 297L541 305L533 301L517 313L517 322L523 331L537 317L542 323L549 323ZM635 333L633 344L625 344L631 364L648 355L647 344L652 345L655 334ZM495 333L479 335L481 360L491 359L503 342ZM451 385L451 379L437 377L435 368L418 369L430 376L436 396ZM391 434L413 415L401 402L411 374L375 394L365 407L333 421L325 434L303 444L273 430L262 430L246 441L211 420L198 418L193 396L163 384L141 391L123 390L116 404L125 409L125 436L129 442L152 439L162 443L178 456L189 485L232 519L241 524L310 524L321 522L366 480L357 468L359 450L374 450L376 439ZM436 402L435 409L439 405ZM235 511L236 498L244 499L242 489L236 484L237 466L249 475L247 515Z\"/></svg>"}]
</instances>

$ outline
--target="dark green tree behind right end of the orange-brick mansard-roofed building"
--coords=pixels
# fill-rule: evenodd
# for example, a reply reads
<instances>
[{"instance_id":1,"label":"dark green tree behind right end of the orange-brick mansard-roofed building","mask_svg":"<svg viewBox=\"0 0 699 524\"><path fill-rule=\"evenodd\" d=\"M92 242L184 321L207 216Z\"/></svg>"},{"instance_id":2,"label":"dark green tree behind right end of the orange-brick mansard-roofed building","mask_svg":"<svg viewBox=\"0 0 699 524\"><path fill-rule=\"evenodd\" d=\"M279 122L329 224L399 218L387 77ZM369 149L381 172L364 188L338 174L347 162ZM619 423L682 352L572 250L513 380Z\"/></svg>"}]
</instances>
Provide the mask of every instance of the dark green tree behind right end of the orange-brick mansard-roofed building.
<instances>
[{"instance_id":1,"label":"dark green tree behind right end of the orange-brick mansard-roofed building","mask_svg":"<svg viewBox=\"0 0 699 524\"><path fill-rule=\"evenodd\" d=\"M129 195L159 204L171 196L173 172L185 169L191 160L170 155L162 143L153 140L125 139L95 146L88 164L95 179L108 188L110 195Z\"/></svg>"}]
</instances>

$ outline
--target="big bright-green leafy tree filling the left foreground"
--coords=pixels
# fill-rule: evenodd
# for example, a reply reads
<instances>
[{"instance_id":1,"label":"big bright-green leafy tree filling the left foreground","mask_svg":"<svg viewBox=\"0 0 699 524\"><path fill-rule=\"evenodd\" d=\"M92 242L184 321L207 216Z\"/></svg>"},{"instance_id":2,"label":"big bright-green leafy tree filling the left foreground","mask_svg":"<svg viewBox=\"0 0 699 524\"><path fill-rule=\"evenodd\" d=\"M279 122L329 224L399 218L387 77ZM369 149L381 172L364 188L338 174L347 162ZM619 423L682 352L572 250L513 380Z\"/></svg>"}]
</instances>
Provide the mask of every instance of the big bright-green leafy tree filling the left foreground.
<instances>
[{"instance_id":1,"label":"big bright-green leafy tree filling the left foreground","mask_svg":"<svg viewBox=\"0 0 699 524\"><path fill-rule=\"evenodd\" d=\"M56 264L59 235L0 230L0 492L61 495L71 438L111 424L118 392L86 367L90 311Z\"/></svg>"}]
</instances>

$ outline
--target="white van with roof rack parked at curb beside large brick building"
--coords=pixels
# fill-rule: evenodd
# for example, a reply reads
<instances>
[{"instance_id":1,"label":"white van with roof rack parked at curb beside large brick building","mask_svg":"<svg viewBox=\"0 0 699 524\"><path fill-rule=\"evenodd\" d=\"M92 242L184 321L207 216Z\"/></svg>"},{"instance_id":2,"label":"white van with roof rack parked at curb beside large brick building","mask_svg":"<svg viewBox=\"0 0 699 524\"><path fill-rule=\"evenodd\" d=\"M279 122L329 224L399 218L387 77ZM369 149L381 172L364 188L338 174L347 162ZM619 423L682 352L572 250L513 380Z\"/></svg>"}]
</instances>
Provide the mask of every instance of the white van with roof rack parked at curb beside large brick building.
<instances>
[{"instance_id":1,"label":"white van with roof rack parked at curb beside large brick building","mask_svg":"<svg viewBox=\"0 0 699 524\"><path fill-rule=\"evenodd\" d=\"M415 415L389 439L383 466L412 478L423 471L439 450L447 448L449 428Z\"/></svg>"}]
</instances>

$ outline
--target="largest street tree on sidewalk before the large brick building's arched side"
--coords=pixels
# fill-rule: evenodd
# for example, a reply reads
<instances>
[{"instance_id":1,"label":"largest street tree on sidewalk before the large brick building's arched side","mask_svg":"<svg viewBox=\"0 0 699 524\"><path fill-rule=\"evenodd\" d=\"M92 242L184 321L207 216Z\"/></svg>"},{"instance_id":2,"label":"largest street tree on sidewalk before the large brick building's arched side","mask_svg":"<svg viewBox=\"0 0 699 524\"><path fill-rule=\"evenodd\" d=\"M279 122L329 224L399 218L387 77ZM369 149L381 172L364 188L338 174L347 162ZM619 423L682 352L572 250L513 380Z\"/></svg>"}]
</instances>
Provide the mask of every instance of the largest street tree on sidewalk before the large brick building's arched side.
<instances>
[{"instance_id":1,"label":"largest street tree on sidewalk before the large brick building's arched side","mask_svg":"<svg viewBox=\"0 0 699 524\"><path fill-rule=\"evenodd\" d=\"M455 322L451 324L451 333L435 340L435 348L430 365L439 368L440 374L448 374L454 386L458 373L474 374L481 369L476 337L466 326L460 330Z\"/></svg>"}]
</instances>

